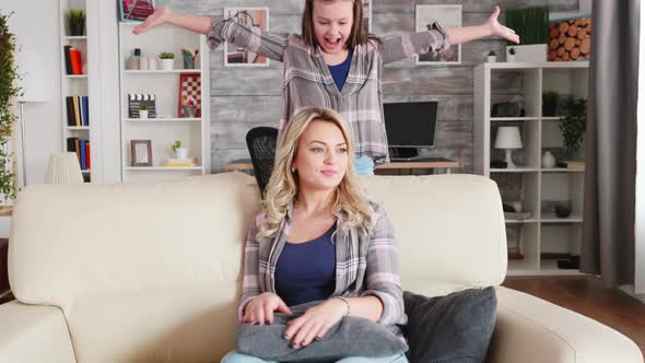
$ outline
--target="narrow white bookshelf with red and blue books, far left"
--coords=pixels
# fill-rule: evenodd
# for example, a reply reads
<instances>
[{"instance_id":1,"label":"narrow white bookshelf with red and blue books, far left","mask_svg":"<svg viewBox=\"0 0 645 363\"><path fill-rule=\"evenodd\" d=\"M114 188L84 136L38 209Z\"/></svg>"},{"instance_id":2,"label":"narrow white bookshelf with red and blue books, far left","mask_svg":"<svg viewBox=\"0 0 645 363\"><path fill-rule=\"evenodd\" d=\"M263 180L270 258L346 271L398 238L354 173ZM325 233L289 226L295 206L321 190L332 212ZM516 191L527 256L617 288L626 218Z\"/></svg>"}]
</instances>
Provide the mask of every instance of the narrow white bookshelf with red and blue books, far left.
<instances>
[{"instance_id":1,"label":"narrow white bookshelf with red and blue books, far left","mask_svg":"<svg viewBox=\"0 0 645 363\"><path fill-rule=\"evenodd\" d=\"M83 178L86 183L96 182L98 178L93 175L92 152L93 141L96 139L93 126L98 122L96 112L93 110L93 105L90 101L93 94L92 86L97 81L92 75L92 65L90 61L91 51L98 50L93 48L92 34L90 22L90 11L87 11L87 3L85 0L60 0L59 1L59 16L60 16L60 95L61 95L61 128L62 128L62 151L75 151L79 154ZM69 27L69 12L71 9L82 9L85 11L85 30L83 35L71 35ZM68 69L69 59L66 59L66 47L71 47L80 54L80 65L77 68L75 74L71 74ZM85 67L84 67L85 65ZM79 73L79 69L80 72ZM72 101L75 97L77 103ZM86 102L83 102L83 98ZM71 101L73 108L68 108L68 99ZM75 112L79 113L78 117ZM83 140L78 144L69 142L70 139ZM70 150L70 148L74 148ZM82 150L81 150L82 149ZM84 161L84 163L81 162Z\"/></svg>"}]
</instances>

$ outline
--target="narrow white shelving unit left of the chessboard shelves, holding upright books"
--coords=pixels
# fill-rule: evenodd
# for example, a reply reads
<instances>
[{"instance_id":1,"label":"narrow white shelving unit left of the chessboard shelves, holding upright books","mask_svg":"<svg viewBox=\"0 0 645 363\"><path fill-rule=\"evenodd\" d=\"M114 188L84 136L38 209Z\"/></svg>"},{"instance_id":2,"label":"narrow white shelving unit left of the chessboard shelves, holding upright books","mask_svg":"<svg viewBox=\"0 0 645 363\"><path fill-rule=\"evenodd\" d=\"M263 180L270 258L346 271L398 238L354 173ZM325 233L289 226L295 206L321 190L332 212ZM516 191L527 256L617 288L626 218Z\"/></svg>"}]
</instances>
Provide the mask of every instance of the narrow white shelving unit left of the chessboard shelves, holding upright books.
<instances>
[{"instance_id":1,"label":"narrow white shelving unit left of the chessboard shelves, holding upright books","mask_svg":"<svg viewBox=\"0 0 645 363\"><path fill-rule=\"evenodd\" d=\"M94 107L92 104L92 84L95 82L92 77L92 63L89 60L90 51L92 51L92 37L90 31L91 17L87 15L85 20L85 34L82 36L71 36L69 33L69 21L68 14L70 9L83 9L87 14L87 5L85 0L59 0L59 16L60 16L60 95L61 95L61 127L62 127L62 151L68 151L68 138L79 138L87 140L92 145L96 139L97 132L94 131L93 126L98 124L96 119L97 113L93 112ZM72 46L81 51L82 63L87 63L87 74L68 74L66 67L64 46ZM68 125L68 112L66 97L72 95L89 96L89 119L90 126L69 126ZM97 180L96 175L93 175L92 168L96 166L96 160L92 157L91 168L82 169L83 177L86 182Z\"/></svg>"}]
</instances>

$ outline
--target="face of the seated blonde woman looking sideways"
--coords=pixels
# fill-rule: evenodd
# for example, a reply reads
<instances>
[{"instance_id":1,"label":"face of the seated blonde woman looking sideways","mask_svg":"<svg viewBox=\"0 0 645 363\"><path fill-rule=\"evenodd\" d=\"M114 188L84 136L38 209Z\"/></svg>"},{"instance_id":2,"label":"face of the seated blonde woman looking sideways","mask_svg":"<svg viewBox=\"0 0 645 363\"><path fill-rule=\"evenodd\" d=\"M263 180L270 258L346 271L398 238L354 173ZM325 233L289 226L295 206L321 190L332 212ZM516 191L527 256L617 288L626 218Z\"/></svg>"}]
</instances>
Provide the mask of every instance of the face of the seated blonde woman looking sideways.
<instances>
[{"instance_id":1,"label":"face of the seated blonde woman looking sideways","mask_svg":"<svg viewBox=\"0 0 645 363\"><path fill-rule=\"evenodd\" d=\"M347 172L347 141L338 126L315 120L307 126L297 144L295 167L300 189L328 190L338 187Z\"/></svg>"}]
</instances>

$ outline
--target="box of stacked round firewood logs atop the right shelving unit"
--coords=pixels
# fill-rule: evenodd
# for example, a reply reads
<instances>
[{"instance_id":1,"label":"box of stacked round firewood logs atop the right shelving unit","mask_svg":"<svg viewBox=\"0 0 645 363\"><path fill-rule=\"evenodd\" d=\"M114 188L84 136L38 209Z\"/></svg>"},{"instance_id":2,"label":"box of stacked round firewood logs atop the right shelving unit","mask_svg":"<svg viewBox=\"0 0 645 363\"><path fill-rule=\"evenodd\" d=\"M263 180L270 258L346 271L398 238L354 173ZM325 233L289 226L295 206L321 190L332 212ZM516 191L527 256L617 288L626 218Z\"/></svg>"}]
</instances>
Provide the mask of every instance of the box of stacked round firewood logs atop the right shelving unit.
<instances>
[{"instance_id":1,"label":"box of stacked round firewood logs atop the right shelving unit","mask_svg":"<svg viewBox=\"0 0 645 363\"><path fill-rule=\"evenodd\" d=\"M591 17L549 24L549 60L585 60L591 51Z\"/></svg>"}]
</instances>

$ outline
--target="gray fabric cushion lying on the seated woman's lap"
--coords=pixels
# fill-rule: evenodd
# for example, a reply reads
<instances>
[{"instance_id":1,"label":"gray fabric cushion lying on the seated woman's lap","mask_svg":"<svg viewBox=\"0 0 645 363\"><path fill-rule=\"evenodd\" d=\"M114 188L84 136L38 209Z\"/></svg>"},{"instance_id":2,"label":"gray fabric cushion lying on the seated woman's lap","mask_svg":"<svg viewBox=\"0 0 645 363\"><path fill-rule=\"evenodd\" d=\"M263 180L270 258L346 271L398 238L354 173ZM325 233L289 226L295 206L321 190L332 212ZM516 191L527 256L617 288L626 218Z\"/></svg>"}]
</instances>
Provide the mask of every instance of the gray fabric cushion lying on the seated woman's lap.
<instances>
[{"instance_id":1,"label":"gray fabric cushion lying on the seated woman's lap","mask_svg":"<svg viewBox=\"0 0 645 363\"><path fill-rule=\"evenodd\" d=\"M365 318L345 316L333 325L320 340L307 347L292 348L284 339L286 323L321 302L290 307L293 315L277 313L271 325L239 324L238 352L279 362L336 362L347 356L389 356L408 350L406 343L384 326Z\"/></svg>"}]
</instances>

